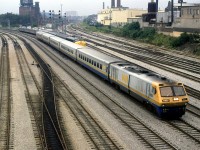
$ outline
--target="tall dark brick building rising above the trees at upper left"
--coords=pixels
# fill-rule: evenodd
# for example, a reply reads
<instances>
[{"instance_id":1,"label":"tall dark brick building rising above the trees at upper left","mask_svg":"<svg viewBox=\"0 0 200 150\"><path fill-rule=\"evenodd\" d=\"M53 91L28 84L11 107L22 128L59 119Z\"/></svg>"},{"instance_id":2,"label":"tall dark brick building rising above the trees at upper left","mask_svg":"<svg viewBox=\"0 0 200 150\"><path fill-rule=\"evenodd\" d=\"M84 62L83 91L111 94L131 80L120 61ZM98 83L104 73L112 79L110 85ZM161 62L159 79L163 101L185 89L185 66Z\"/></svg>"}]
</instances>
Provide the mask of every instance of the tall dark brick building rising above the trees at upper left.
<instances>
[{"instance_id":1,"label":"tall dark brick building rising above the trees at upper left","mask_svg":"<svg viewBox=\"0 0 200 150\"><path fill-rule=\"evenodd\" d=\"M33 5L33 0L20 0L19 15L29 16L30 20L38 22L41 19L39 2Z\"/></svg>"}]
</instances>

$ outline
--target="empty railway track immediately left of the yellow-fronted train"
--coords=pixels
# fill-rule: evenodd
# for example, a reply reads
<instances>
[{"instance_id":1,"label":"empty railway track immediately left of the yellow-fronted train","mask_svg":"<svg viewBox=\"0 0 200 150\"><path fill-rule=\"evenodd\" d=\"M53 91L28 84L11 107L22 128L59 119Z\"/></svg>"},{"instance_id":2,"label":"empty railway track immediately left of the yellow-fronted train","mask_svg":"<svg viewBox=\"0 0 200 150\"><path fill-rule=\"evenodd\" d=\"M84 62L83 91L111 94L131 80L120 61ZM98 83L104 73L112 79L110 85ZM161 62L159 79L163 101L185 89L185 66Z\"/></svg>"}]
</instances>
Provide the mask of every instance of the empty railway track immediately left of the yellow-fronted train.
<instances>
[{"instance_id":1,"label":"empty railway track immediately left of the yellow-fronted train","mask_svg":"<svg viewBox=\"0 0 200 150\"><path fill-rule=\"evenodd\" d=\"M81 74L79 74L73 68L70 68L68 64L62 62L51 51L48 51L45 47L41 47L43 51L53 59L57 64L61 64L61 67L71 75L77 82L79 82L90 94L92 94L99 103L101 103L106 109L108 109L115 118L121 121L121 123L128 127L130 132L137 136L137 138L147 147L151 149L176 149L173 145L167 142L161 135L154 132L150 127L145 125L134 114L129 113L126 109L122 108L120 104L117 104L113 99L95 87Z\"/></svg>"}]
</instances>

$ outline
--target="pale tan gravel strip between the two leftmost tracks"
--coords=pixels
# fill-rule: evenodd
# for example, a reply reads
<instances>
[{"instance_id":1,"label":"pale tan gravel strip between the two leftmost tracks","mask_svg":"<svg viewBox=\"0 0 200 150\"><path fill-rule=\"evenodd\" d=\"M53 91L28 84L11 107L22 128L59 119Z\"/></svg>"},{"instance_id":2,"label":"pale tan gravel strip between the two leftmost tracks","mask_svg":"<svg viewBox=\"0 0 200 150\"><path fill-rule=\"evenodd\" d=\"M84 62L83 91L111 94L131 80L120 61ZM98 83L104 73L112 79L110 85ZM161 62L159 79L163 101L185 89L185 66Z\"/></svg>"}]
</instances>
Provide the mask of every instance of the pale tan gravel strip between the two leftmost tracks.
<instances>
[{"instance_id":1,"label":"pale tan gravel strip between the two leftmost tracks","mask_svg":"<svg viewBox=\"0 0 200 150\"><path fill-rule=\"evenodd\" d=\"M25 87L21 77L17 56L11 41L9 41L9 59L11 69L12 91L12 128L14 149L37 149L31 124L30 114L25 97ZM22 117L23 116L23 117Z\"/></svg>"}]
</instances>

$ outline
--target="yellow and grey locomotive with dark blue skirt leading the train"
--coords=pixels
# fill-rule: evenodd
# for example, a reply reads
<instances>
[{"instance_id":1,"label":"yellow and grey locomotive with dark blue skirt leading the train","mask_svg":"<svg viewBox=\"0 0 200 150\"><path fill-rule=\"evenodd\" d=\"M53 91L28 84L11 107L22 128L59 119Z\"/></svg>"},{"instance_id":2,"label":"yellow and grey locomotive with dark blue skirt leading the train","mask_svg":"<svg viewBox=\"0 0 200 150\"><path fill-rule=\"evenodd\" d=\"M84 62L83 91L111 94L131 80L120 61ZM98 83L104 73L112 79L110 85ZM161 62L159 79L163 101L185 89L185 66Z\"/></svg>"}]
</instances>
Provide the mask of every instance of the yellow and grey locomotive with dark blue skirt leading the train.
<instances>
[{"instance_id":1,"label":"yellow and grey locomotive with dark blue skirt leading the train","mask_svg":"<svg viewBox=\"0 0 200 150\"><path fill-rule=\"evenodd\" d=\"M185 113L188 96L182 83L130 63L111 64L110 79L160 117L181 117Z\"/></svg>"}]
</instances>

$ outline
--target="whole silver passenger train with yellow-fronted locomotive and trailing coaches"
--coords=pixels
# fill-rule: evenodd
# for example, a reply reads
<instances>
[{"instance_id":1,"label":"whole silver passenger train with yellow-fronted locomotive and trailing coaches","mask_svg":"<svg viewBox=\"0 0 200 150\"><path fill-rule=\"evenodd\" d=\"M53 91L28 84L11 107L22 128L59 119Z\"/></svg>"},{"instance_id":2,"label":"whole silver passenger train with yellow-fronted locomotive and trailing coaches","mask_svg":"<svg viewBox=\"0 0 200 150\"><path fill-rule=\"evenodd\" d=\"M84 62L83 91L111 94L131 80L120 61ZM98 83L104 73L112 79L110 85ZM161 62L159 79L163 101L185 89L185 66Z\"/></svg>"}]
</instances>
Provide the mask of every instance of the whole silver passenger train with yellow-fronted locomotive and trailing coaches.
<instances>
[{"instance_id":1,"label":"whole silver passenger train with yellow-fronted locomotive and trailing coaches","mask_svg":"<svg viewBox=\"0 0 200 150\"><path fill-rule=\"evenodd\" d=\"M45 32L37 32L36 37L141 101L159 117L185 114L189 98L183 83Z\"/></svg>"}]
</instances>

